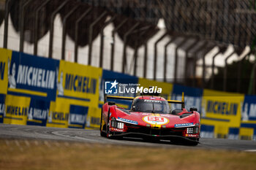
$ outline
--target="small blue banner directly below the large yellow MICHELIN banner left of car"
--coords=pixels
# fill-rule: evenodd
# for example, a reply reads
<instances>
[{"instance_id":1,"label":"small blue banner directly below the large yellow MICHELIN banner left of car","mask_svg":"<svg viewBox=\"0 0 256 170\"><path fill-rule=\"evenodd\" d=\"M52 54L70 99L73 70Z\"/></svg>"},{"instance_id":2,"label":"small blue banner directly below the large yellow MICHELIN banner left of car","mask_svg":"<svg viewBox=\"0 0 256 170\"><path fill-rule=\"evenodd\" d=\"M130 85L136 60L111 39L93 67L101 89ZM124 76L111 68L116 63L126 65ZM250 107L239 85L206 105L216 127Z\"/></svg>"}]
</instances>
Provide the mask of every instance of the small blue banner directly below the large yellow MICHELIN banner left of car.
<instances>
[{"instance_id":1,"label":"small blue banner directly below the large yellow MICHELIN banner left of car","mask_svg":"<svg viewBox=\"0 0 256 170\"><path fill-rule=\"evenodd\" d=\"M89 107L70 105L69 128L85 128Z\"/></svg>"}]
</instances>

